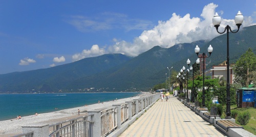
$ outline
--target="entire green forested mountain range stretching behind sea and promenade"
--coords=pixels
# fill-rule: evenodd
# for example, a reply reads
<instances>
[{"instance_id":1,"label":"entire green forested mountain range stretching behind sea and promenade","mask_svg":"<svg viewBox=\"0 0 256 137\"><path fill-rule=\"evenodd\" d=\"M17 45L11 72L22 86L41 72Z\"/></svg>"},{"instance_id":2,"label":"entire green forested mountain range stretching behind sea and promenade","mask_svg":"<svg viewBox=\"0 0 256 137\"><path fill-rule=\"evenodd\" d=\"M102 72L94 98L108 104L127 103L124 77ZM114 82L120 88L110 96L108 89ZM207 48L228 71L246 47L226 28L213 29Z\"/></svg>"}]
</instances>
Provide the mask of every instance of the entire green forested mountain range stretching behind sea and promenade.
<instances>
[{"instance_id":1,"label":"entire green forested mountain range stretching behind sea and promenade","mask_svg":"<svg viewBox=\"0 0 256 137\"><path fill-rule=\"evenodd\" d=\"M241 54L251 48L256 53L256 25L229 33L230 63L236 63ZM227 60L227 34L211 41L182 43L170 48L155 46L135 58L122 54L105 54L77 62L25 72L0 75L2 92L87 92L87 91L138 91L148 90L165 81L168 70L179 71L198 58L194 49L207 53L211 45L214 51L206 59L206 69Z\"/></svg>"}]
</instances>

